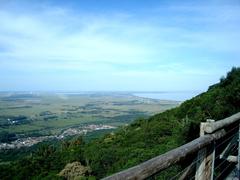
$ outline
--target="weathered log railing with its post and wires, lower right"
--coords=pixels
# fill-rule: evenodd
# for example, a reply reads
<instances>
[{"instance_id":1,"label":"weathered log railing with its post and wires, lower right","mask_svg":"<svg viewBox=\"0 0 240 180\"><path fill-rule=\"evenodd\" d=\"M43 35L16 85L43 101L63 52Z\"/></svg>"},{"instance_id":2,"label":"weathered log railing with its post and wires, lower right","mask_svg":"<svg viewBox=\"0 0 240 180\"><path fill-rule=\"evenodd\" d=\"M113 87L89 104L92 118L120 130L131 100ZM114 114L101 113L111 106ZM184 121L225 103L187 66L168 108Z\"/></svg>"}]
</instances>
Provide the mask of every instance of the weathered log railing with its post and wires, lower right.
<instances>
[{"instance_id":1,"label":"weathered log railing with its post and wires, lower right","mask_svg":"<svg viewBox=\"0 0 240 180\"><path fill-rule=\"evenodd\" d=\"M113 174L109 177L104 178L104 180L130 180L130 179L146 179L148 177L153 176L176 163L184 160L188 155L197 153L196 159L192 160L195 163L195 175L194 178L197 180L206 180L206 179L217 179L214 177L214 167L215 167L215 159L216 159L216 148L219 147L216 142L222 139L221 142L225 142L226 140L231 140L232 137L235 137L229 134L236 134L239 131L239 120L240 120L240 112L225 118L223 120L214 121L207 120L207 122L201 123L200 126L200 137L183 145L176 149L173 149L165 154L154 157L146 162L143 162L137 166L126 169L119 173ZM238 127L234 127L232 129L226 129L230 125L238 124ZM234 131L233 131L234 130ZM226 138L226 140L224 140ZM239 139L239 138L238 138ZM226 141L227 142L227 141ZM235 142L237 143L237 142ZM219 143L222 145L223 143ZM226 143L224 143L225 145ZM230 144L227 144L227 148L230 147ZM238 147L238 151L239 151ZM228 149L225 149L217 158L223 158L226 155L226 151L229 152ZM225 158L227 161L233 160L234 163L238 162L239 168L239 153L238 156L229 155ZM192 168L193 163L188 168L185 168L183 171L183 175L185 178L188 176L188 171L190 167ZM239 170L239 169L238 169ZM182 177L182 179L184 179Z\"/></svg>"}]
</instances>

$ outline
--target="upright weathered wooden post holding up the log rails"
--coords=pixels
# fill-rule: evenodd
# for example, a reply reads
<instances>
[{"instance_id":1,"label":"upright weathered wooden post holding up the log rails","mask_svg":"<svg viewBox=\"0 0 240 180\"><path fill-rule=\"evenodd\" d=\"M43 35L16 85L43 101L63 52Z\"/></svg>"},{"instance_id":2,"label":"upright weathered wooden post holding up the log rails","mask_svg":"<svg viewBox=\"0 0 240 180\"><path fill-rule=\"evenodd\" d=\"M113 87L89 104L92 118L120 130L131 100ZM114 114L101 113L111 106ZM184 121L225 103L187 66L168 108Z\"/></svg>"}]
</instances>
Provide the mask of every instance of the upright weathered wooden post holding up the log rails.
<instances>
[{"instance_id":1,"label":"upright weathered wooden post holding up the log rails","mask_svg":"<svg viewBox=\"0 0 240 180\"><path fill-rule=\"evenodd\" d=\"M214 120L207 120L207 122L200 124L200 137L205 135L205 127ZM215 159L215 143L209 147L205 147L198 152L196 165L196 180L213 179L214 173L214 159Z\"/></svg>"}]
</instances>

